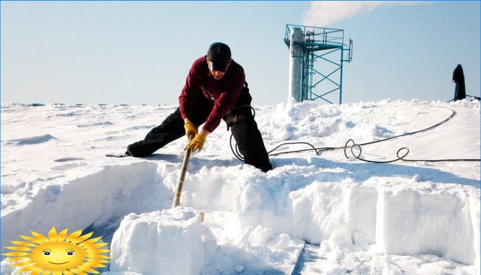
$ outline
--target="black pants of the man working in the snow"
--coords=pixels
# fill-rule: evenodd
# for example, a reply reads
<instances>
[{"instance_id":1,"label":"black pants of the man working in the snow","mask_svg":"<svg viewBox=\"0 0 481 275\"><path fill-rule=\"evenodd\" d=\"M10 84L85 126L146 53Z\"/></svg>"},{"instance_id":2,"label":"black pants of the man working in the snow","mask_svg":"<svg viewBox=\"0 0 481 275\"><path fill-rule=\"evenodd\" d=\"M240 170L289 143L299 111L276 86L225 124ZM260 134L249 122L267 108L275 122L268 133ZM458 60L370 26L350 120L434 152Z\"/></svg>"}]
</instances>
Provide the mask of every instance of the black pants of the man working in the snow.
<instances>
[{"instance_id":1,"label":"black pants of the man working in the snow","mask_svg":"<svg viewBox=\"0 0 481 275\"><path fill-rule=\"evenodd\" d=\"M260 168L263 172L271 170L272 166L269 163L269 156L264 146L262 136L254 120L254 115L251 113L250 107L240 107L249 105L251 96L248 91L243 91L240 94L234 110L232 113L236 115L237 121L230 126L232 135L237 142L240 153L244 156L246 164ZM194 104L190 121L199 126L207 120L214 102L208 100L204 96L199 96ZM240 107L237 108L236 107ZM155 151L166 146L169 142L177 140L179 137L186 135L183 128L183 119L181 117L179 108L171 113L164 122L159 126L150 130L144 140L134 142L128 145L128 153L133 157L146 157Z\"/></svg>"}]
</instances>

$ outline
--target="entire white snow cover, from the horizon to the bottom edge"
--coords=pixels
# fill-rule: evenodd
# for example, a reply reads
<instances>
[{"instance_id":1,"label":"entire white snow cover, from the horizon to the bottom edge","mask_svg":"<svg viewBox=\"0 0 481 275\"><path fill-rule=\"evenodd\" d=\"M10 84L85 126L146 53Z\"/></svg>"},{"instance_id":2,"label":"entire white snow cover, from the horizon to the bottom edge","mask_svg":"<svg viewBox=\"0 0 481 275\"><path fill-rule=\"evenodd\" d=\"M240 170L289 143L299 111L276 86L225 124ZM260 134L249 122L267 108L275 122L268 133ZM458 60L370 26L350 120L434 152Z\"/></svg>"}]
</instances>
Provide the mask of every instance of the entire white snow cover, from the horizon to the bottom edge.
<instances>
[{"instance_id":1,"label":"entire white snow cover, from the horizon to the bottom edge","mask_svg":"<svg viewBox=\"0 0 481 275\"><path fill-rule=\"evenodd\" d=\"M479 101L255 109L268 150L383 140L454 111L429 131L362 146L361 157L386 161L408 147L406 159L480 158ZM105 274L481 274L480 162L373 164L336 149L272 156L262 173L233 156L222 122L192 155L181 207L170 209L185 139L143 159L105 154L123 153L174 110L2 103L1 252L56 226L111 243ZM13 272L2 261L1 274Z\"/></svg>"}]
</instances>

